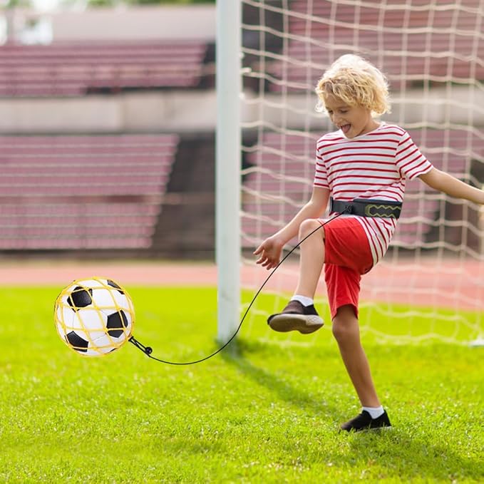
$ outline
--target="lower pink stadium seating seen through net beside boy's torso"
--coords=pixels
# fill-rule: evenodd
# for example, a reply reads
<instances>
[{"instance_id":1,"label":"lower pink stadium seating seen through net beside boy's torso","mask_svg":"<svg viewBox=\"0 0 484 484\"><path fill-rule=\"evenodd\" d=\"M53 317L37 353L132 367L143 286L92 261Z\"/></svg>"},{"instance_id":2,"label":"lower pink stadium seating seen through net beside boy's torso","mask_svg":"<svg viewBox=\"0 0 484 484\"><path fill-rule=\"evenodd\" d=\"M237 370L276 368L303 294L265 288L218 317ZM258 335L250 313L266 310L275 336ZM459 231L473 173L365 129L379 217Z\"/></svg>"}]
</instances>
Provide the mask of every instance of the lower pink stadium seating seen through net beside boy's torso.
<instances>
[{"instance_id":1,"label":"lower pink stadium seating seen through net beside boy's torso","mask_svg":"<svg viewBox=\"0 0 484 484\"><path fill-rule=\"evenodd\" d=\"M410 133L436 168L455 177L463 178L472 160L484 161L484 139L478 133L430 129L411 130ZM318 135L314 133L311 138L315 142ZM309 138L297 135L282 138L278 133L266 133L261 147L248 153L247 162L252 168L247 170L243 188L244 247L254 247L261 238L279 230L309 200L315 143L309 148L308 141ZM425 243L431 230L440 223L442 200L438 192L425 184L407 182L405 203L393 245L412 248Z\"/></svg>"}]
</instances>

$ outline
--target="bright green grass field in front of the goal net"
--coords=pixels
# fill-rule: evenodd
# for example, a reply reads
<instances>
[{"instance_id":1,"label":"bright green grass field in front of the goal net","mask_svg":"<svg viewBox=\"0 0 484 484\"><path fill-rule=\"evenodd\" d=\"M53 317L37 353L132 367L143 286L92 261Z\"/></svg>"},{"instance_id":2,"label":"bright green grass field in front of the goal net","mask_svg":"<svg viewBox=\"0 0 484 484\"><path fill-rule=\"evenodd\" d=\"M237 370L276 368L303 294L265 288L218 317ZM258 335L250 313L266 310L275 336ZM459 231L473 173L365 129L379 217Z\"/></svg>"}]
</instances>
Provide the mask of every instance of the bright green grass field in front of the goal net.
<instances>
[{"instance_id":1,"label":"bright green grass field in front of the goal net","mask_svg":"<svg viewBox=\"0 0 484 484\"><path fill-rule=\"evenodd\" d=\"M330 329L268 339L261 315L195 366L131 344L87 359L53 326L60 289L0 289L0 482L484 482L483 348L369 339L394 428L348 435L359 403ZM216 349L215 289L128 289L154 356Z\"/></svg>"}]
</instances>

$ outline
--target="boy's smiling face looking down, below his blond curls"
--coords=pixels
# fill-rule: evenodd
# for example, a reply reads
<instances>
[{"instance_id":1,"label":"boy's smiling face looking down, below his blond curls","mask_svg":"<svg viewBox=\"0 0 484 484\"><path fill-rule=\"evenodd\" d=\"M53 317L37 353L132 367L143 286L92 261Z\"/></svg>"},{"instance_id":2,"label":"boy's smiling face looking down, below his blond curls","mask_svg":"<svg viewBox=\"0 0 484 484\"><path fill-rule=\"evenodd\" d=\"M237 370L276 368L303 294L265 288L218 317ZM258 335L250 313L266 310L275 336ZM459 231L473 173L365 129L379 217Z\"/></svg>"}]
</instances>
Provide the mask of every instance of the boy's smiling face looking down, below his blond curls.
<instances>
[{"instance_id":1,"label":"boy's smiling face looking down, below his blond curls","mask_svg":"<svg viewBox=\"0 0 484 484\"><path fill-rule=\"evenodd\" d=\"M348 105L333 94L324 96L324 105L331 122L341 129L346 138L355 138L379 127L379 123L371 117L371 110L363 106Z\"/></svg>"}]
</instances>

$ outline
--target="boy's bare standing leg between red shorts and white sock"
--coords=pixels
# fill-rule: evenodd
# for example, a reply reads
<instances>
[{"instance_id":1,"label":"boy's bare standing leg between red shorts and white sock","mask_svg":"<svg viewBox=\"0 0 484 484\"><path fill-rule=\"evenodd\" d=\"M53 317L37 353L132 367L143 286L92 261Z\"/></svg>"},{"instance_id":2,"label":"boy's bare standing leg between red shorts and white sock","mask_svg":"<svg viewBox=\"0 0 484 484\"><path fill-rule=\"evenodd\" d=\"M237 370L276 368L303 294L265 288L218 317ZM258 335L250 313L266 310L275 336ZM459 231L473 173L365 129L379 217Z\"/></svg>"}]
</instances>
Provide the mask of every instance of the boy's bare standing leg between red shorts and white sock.
<instances>
[{"instance_id":1,"label":"boy's bare standing leg between red shorts and white sock","mask_svg":"<svg viewBox=\"0 0 484 484\"><path fill-rule=\"evenodd\" d=\"M338 309L333 319L333 334L361 405L379 407L368 359L360 342L359 322L351 305Z\"/></svg>"}]
</instances>

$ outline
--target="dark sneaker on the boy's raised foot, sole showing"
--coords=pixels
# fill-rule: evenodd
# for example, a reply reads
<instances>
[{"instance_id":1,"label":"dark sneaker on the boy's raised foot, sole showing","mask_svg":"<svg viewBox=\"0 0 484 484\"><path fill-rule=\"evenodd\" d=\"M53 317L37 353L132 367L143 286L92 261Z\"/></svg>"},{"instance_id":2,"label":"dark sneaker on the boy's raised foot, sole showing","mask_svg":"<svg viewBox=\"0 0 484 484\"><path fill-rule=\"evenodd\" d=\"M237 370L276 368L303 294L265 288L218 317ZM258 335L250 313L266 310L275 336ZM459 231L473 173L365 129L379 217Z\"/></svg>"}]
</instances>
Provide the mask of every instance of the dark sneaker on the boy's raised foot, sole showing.
<instances>
[{"instance_id":1,"label":"dark sneaker on the boy's raised foot, sole showing","mask_svg":"<svg viewBox=\"0 0 484 484\"><path fill-rule=\"evenodd\" d=\"M274 331L299 331L299 333L308 334L321 328L324 323L314 304L303 306L299 301L289 301L282 313L269 316L267 324Z\"/></svg>"}]
</instances>

